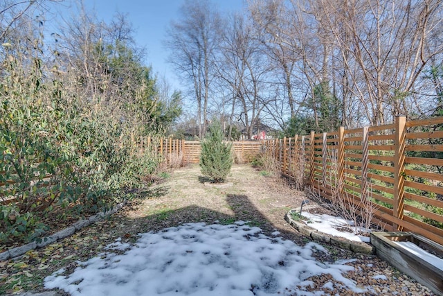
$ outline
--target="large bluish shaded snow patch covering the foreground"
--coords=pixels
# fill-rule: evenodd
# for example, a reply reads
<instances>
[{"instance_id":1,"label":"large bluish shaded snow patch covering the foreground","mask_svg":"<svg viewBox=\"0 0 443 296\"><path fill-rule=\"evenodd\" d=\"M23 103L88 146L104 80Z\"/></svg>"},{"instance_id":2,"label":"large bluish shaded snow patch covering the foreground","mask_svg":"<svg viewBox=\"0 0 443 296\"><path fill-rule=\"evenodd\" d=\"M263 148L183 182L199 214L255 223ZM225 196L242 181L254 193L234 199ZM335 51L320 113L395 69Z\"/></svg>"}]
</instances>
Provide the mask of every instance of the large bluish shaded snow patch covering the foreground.
<instances>
[{"instance_id":1,"label":"large bluish shaded snow patch covering the foreground","mask_svg":"<svg viewBox=\"0 0 443 296\"><path fill-rule=\"evenodd\" d=\"M315 287L307 279L329 274L354 293L367 291L345 277L354 268L340 262L349 261L316 261L314 252L327 252L321 245L300 247L261 232L243 222L188 223L149 232L124 254L111 252L125 245L116 241L109 252L82 263L71 275L55 272L46 277L44 286L73 296L323 295L321 287L308 292L307 286Z\"/></svg>"}]
</instances>

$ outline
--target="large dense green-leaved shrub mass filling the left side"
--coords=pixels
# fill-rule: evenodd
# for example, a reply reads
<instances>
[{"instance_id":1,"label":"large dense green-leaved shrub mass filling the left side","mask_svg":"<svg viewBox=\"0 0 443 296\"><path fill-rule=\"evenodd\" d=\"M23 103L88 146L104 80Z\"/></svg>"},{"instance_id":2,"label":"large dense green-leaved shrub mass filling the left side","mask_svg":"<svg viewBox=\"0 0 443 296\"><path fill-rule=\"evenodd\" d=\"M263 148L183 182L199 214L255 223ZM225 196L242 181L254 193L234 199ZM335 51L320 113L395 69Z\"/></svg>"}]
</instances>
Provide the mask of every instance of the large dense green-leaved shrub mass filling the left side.
<instances>
[{"instance_id":1,"label":"large dense green-leaved shrub mass filling the left side","mask_svg":"<svg viewBox=\"0 0 443 296\"><path fill-rule=\"evenodd\" d=\"M144 186L160 159L138 139L161 137L175 116L160 118L149 68L132 63L140 75L125 81L75 63L59 72L39 58L41 41L0 45L0 243L35 239L55 210L89 216Z\"/></svg>"}]
</instances>

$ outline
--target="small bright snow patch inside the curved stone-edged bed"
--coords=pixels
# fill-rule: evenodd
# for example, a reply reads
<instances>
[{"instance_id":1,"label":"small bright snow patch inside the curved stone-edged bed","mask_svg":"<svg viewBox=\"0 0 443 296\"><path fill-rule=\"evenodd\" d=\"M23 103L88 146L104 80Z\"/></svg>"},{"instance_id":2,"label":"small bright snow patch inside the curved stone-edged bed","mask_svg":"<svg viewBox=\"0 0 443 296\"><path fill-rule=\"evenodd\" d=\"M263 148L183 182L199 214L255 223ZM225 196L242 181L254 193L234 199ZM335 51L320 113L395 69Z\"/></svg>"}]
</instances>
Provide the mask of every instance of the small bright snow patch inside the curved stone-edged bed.
<instances>
[{"instance_id":1,"label":"small bright snow patch inside the curved stone-edged bed","mask_svg":"<svg viewBox=\"0 0 443 296\"><path fill-rule=\"evenodd\" d=\"M319 232L323 232L325 234L331 234L332 236L340 236L343 238L347 238L350 241L362 241L365 243L370 242L369 236L361 236L354 234L354 227L352 226L354 223L351 220L345 220L341 217L330 216L327 214L311 214L308 211L303 211L302 216L305 216L311 223L307 223L309 227L317 229ZM349 228L352 232L343 232L338 229L340 228ZM337 229L338 228L338 229ZM358 228L360 231L363 229Z\"/></svg>"}]
</instances>

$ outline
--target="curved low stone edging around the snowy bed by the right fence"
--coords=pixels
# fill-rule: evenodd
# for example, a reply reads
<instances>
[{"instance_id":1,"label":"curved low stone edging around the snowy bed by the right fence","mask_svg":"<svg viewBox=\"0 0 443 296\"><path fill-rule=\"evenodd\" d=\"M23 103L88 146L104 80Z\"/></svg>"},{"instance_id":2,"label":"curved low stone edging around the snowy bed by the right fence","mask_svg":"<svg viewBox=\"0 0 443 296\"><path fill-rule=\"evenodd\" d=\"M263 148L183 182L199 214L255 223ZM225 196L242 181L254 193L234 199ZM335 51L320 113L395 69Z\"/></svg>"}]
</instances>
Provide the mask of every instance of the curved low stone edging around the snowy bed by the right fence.
<instances>
[{"instance_id":1,"label":"curved low stone edging around the snowy bed by the right fence","mask_svg":"<svg viewBox=\"0 0 443 296\"><path fill-rule=\"evenodd\" d=\"M307 209L307 207L304 207ZM291 225L294 229L296 229L300 234L305 236L309 236L314 241L318 241L320 243L329 243L330 245L334 245L336 247L340 247L341 249L351 250L352 252L362 253L362 254L374 254L374 247L372 245L368 245L367 243L358 242L358 241L350 241L346 238L342 238L339 236L332 236L330 234L325 234L323 232L319 232L317 229L309 227L305 223L300 221L293 220L291 214L293 212L299 213L300 208L291 209L284 216L284 220Z\"/></svg>"}]
</instances>

